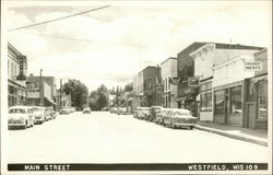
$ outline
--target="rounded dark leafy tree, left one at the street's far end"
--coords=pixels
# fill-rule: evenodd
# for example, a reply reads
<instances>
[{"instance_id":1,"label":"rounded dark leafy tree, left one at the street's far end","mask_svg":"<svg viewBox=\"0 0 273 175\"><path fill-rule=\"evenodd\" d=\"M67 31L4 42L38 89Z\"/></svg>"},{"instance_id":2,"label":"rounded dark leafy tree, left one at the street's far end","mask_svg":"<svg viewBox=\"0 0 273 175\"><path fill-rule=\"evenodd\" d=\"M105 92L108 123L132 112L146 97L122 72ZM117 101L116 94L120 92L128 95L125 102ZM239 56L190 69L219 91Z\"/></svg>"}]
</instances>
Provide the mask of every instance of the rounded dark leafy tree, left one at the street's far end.
<instances>
[{"instance_id":1,"label":"rounded dark leafy tree, left one at the street's far end","mask_svg":"<svg viewBox=\"0 0 273 175\"><path fill-rule=\"evenodd\" d=\"M88 89L79 80L69 80L63 84L66 94L71 95L71 105L78 108L83 108L87 104Z\"/></svg>"}]
</instances>

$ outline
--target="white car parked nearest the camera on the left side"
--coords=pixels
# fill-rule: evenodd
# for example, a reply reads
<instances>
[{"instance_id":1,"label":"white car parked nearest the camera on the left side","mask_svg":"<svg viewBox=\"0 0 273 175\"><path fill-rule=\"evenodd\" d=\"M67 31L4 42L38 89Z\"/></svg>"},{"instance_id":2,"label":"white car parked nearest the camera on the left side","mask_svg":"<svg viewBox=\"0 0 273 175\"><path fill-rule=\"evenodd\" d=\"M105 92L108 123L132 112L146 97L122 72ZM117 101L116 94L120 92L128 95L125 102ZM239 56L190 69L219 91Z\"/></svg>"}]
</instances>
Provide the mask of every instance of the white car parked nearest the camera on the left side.
<instances>
[{"instance_id":1,"label":"white car parked nearest the camera on the left side","mask_svg":"<svg viewBox=\"0 0 273 175\"><path fill-rule=\"evenodd\" d=\"M9 128L20 127L26 129L27 127L33 127L34 121L35 117L32 107L12 106L9 108Z\"/></svg>"}]
</instances>

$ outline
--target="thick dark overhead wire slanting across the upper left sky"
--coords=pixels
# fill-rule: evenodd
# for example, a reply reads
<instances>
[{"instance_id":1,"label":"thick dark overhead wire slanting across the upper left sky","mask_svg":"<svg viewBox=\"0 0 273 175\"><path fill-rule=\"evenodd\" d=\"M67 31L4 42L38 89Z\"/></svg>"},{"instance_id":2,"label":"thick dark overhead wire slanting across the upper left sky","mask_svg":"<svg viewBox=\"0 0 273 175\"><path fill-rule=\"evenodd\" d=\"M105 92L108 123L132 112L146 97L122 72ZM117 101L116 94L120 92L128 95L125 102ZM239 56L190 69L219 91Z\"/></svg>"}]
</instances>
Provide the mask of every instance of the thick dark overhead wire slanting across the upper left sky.
<instances>
[{"instance_id":1,"label":"thick dark overhead wire slanting across the upper left sky","mask_svg":"<svg viewBox=\"0 0 273 175\"><path fill-rule=\"evenodd\" d=\"M44 22L40 22L40 23L35 23L35 24L31 24L31 25L26 25L26 26L21 26L21 27L17 27L17 28L9 30L9 32L17 31L17 30L23 30L23 28L27 28L27 27L32 27L32 26L37 26L37 25L41 25L41 24L46 24L46 23L50 23L50 22L55 22L55 21L59 21L59 20L72 18L72 16L75 16L75 15L88 13L88 12L92 12L92 11L96 11L96 10L100 10L100 9L105 9L105 8L109 8L109 7L110 7L110 5L105 5L105 7L100 7L100 8L87 10L87 11L84 11L84 12L80 12L80 13L75 13L75 14L62 16L62 18L59 18L59 19L54 19L54 20L48 20L48 21L44 21Z\"/></svg>"}]
</instances>

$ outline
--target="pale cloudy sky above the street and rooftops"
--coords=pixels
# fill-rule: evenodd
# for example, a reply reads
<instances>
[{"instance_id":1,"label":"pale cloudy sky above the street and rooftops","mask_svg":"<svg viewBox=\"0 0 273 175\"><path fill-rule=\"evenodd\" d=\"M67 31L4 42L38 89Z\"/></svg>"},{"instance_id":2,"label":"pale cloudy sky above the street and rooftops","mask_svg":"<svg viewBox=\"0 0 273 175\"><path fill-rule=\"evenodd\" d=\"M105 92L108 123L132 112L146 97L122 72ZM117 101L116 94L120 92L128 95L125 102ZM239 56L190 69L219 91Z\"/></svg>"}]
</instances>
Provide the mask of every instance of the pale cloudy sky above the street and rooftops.
<instances>
[{"instance_id":1,"label":"pale cloudy sky above the street and rooftops","mask_svg":"<svg viewBox=\"0 0 273 175\"><path fill-rule=\"evenodd\" d=\"M27 57L27 74L43 69L43 75L76 79L90 91L100 84L122 86L193 42L271 47L271 1L166 2L7 2L5 30L110 5L7 32L7 38Z\"/></svg>"}]
</instances>

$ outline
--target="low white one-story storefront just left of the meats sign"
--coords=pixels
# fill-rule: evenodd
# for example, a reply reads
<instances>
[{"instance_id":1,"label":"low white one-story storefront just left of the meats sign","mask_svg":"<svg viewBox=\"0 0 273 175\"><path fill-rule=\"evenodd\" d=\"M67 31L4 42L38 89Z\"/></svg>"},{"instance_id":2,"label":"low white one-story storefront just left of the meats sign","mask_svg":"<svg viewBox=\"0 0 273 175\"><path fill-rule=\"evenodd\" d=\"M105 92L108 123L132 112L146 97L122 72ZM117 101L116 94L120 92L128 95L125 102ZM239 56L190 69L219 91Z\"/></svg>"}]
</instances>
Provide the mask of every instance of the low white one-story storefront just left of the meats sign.
<instances>
[{"instance_id":1,"label":"low white one-story storefront just left of the meats sign","mask_svg":"<svg viewBox=\"0 0 273 175\"><path fill-rule=\"evenodd\" d=\"M213 120L216 124L246 127L247 83L253 72L245 71L245 61L251 57L239 56L213 68ZM236 72L236 75L235 73Z\"/></svg>"}]
</instances>

